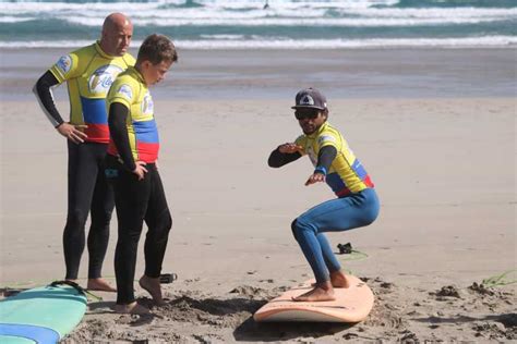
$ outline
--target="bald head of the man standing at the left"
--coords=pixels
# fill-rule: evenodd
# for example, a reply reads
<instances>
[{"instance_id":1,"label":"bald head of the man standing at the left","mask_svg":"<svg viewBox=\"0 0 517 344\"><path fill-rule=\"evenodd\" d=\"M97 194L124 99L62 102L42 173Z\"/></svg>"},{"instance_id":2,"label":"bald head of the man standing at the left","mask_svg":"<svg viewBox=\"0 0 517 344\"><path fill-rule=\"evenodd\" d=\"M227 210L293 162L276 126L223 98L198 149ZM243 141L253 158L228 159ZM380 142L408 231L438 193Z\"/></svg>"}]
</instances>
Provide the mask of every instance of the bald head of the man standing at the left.
<instances>
[{"instance_id":1,"label":"bald head of the man standing at the left","mask_svg":"<svg viewBox=\"0 0 517 344\"><path fill-rule=\"evenodd\" d=\"M100 48L110 56L121 57L128 52L133 37L133 24L122 13L111 13L103 24Z\"/></svg>"}]
</instances>

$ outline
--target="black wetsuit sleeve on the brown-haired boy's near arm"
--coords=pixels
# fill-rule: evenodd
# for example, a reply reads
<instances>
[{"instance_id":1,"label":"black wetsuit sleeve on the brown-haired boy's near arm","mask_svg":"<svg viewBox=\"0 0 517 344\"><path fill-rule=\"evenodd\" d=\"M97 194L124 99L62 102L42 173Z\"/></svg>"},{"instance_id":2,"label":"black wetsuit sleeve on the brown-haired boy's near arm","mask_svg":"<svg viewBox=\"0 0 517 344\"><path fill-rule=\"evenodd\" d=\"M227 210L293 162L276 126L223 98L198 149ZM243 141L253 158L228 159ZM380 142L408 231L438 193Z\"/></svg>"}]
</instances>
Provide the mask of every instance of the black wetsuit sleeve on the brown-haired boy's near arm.
<instances>
[{"instance_id":1,"label":"black wetsuit sleeve on the brown-haired boy's near arm","mask_svg":"<svg viewBox=\"0 0 517 344\"><path fill-rule=\"evenodd\" d=\"M134 163L133 155L131 152L128 128L125 126L128 113L129 109L124 105L113 102L109 107L108 125L109 135L115 143L115 147L117 147L122 163L132 172L136 168L136 164Z\"/></svg>"}]
</instances>

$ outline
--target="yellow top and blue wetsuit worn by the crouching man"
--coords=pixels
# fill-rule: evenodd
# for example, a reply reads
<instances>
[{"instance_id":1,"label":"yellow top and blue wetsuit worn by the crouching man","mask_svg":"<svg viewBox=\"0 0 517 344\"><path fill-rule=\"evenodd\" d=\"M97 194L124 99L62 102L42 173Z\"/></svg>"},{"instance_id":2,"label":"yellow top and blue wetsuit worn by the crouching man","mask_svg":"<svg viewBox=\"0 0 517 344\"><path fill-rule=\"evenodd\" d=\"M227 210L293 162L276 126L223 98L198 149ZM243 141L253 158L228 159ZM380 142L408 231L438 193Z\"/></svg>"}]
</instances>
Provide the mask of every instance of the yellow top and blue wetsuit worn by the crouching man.
<instances>
[{"instance_id":1,"label":"yellow top and blue wetsuit worn by the crouching man","mask_svg":"<svg viewBox=\"0 0 517 344\"><path fill-rule=\"evenodd\" d=\"M325 174L325 181L338 198L317 205L291 223L294 238L309 261L316 282L329 280L329 273L340 270L325 232L341 232L372 223L380 210L374 185L342 135L328 122L311 135L296 139L301 151L281 153L277 148L268 163L279 168L309 156L315 173ZM328 153L330 152L330 153ZM325 158L324 158L325 156ZM322 163L322 160L327 160Z\"/></svg>"}]
</instances>

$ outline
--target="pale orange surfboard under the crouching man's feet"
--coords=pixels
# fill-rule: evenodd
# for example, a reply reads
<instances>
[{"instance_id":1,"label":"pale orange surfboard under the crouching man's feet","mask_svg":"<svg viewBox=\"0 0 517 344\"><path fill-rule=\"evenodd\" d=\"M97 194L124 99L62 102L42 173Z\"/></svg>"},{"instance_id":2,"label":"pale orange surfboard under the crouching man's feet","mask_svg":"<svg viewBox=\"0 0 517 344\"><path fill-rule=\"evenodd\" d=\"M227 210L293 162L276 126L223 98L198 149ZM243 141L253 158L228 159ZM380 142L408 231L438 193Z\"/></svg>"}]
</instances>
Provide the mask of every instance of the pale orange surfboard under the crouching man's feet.
<instances>
[{"instance_id":1,"label":"pale orange surfboard under the crouching man's feet","mask_svg":"<svg viewBox=\"0 0 517 344\"><path fill-rule=\"evenodd\" d=\"M364 320L373 307L373 293L363 281L347 275L350 286L334 288L335 300L332 302L293 302L309 292L314 280L288 290L272 299L253 318L255 321L314 321L314 322L359 322Z\"/></svg>"}]
</instances>

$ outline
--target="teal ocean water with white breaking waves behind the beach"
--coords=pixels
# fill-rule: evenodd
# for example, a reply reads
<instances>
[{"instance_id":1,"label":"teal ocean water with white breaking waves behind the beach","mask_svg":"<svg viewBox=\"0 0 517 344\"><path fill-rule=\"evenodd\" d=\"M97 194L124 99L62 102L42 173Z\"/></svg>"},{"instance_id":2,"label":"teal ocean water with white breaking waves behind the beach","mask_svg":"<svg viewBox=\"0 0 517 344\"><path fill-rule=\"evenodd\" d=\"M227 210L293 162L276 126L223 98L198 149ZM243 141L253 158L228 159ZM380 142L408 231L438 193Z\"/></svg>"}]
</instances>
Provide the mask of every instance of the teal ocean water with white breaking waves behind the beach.
<instances>
[{"instance_id":1,"label":"teal ocean water with white breaking waves behind the beach","mask_svg":"<svg viewBox=\"0 0 517 344\"><path fill-rule=\"evenodd\" d=\"M183 49L517 47L517 0L0 0L0 48L68 48L107 14Z\"/></svg>"}]
</instances>

